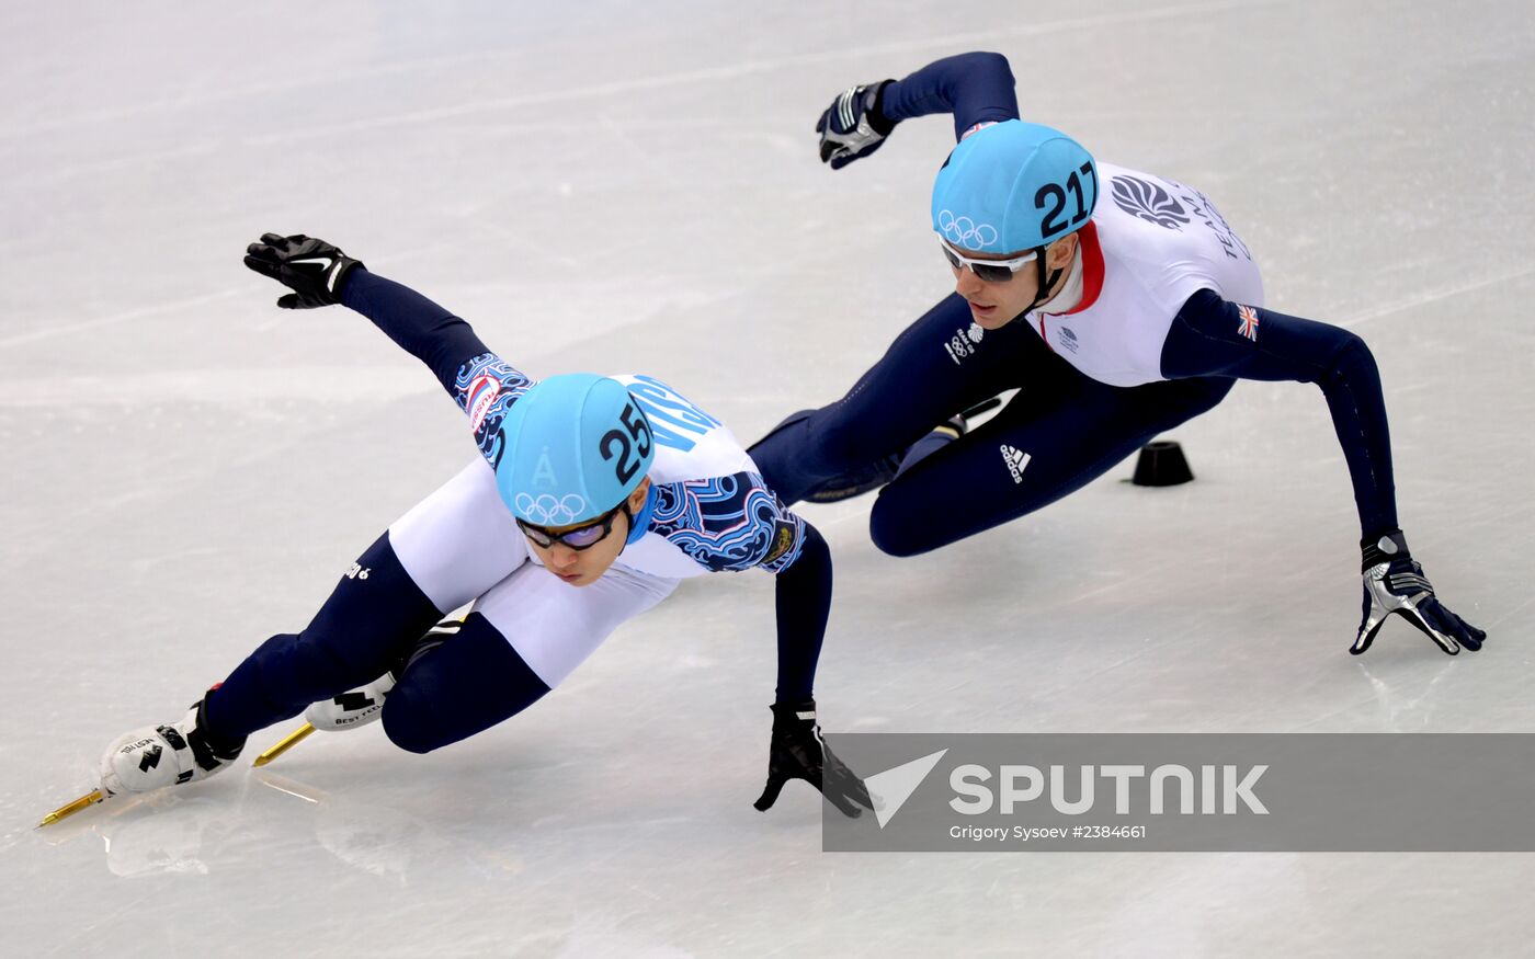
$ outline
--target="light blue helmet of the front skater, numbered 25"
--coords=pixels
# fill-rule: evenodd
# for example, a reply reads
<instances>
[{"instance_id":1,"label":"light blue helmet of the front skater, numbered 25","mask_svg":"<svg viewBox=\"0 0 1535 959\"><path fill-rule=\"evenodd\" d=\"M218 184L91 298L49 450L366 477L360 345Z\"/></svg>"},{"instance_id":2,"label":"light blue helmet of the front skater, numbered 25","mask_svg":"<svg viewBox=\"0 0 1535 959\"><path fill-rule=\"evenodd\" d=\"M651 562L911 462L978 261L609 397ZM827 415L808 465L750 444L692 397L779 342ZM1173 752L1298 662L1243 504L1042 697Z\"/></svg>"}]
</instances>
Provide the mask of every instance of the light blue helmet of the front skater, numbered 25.
<instances>
[{"instance_id":1,"label":"light blue helmet of the front skater, numbered 25","mask_svg":"<svg viewBox=\"0 0 1535 959\"><path fill-rule=\"evenodd\" d=\"M537 526L594 520L623 502L655 462L645 411L616 379L566 373L539 381L500 425L496 489Z\"/></svg>"}]
</instances>

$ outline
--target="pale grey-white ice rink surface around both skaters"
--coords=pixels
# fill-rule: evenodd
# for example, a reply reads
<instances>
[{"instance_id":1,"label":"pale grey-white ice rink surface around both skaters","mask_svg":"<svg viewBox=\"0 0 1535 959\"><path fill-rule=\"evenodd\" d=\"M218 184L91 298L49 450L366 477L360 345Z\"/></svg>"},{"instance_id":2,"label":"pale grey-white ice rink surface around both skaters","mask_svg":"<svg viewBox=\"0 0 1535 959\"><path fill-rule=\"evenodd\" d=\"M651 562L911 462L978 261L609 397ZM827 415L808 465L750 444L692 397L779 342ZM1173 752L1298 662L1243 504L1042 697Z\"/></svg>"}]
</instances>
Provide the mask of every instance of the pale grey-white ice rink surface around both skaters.
<instances>
[{"instance_id":1,"label":"pale grey-white ice rink surface around both skaters","mask_svg":"<svg viewBox=\"0 0 1535 959\"><path fill-rule=\"evenodd\" d=\"M1535 727L1524 3L12 3L5 951L1527 954L1521 855L823 855L806 789L751 809L764 575L688 583L441 753L316 737L31 830L471 456L413 359L345 311L275 310L246 242L325 236L534 374L649 371L751 439L946 292L924 216L947 121L838 173L810 126L849 83L966 49L1010 57L1027 117L1203 189L1273 307L1371 342L1403 525L1492 638L1451 660L1397 621L1346 655L1326 408L1245 384L1176 434L1188 486L1125 463L915 560L872 548L867 500L809 509L838 563L826 726Z\"/></svg>"}]
</instances>

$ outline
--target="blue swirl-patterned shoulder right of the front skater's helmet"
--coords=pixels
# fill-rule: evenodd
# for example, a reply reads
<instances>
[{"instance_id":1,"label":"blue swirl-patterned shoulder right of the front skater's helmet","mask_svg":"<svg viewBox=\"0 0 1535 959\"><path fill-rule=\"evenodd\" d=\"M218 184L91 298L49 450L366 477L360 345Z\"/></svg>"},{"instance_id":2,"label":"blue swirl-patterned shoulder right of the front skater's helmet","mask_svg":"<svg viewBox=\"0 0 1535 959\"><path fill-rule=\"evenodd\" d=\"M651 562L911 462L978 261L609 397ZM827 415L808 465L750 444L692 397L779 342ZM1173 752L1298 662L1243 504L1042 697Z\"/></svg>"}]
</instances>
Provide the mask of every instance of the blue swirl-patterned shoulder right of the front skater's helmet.
<instances>
[{"instance_id":1,"label":"blue swirl-patterned shoulder right of the front skater's helmet","mask_svg":"<svg viewBox=\"0 0 1535 959\"><path fill-rule=\"evenodd\" d=\"M651 531L714 572L787 569L804 548L804 520L755 473L657 486Z\"/></svg>"}]
</instances>

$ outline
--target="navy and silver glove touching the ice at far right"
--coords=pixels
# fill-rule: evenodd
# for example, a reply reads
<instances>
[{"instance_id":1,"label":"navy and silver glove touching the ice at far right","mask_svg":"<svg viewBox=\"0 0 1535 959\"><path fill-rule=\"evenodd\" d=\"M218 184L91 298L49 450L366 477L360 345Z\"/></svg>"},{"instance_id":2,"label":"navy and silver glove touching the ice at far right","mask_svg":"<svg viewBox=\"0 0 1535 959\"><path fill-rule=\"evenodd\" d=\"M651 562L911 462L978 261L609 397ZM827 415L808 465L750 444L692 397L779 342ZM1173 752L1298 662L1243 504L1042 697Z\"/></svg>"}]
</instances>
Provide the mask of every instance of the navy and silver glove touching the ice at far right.
<instances>
[{"instance_id":1,"label":"navy and silver glove touching the ice at far right","mask_svg":"<svg viewBox=\"0 0 1535 959\"><path fill-rule=\"evenodd\" d=\"M1455 655L1461 646L1481 649L1487 634L1449 611L1434 586L1423 575L1423 566L1408 552L1408 540L1401 531L1392 531L1378 540L1363 540L1365 552L1365 614L1358 625L1358 638L1349 652L1358 655L1369 649L1380 626L1391 614L1400 614L1438 648Z\"/></svg>"}]
</instances>

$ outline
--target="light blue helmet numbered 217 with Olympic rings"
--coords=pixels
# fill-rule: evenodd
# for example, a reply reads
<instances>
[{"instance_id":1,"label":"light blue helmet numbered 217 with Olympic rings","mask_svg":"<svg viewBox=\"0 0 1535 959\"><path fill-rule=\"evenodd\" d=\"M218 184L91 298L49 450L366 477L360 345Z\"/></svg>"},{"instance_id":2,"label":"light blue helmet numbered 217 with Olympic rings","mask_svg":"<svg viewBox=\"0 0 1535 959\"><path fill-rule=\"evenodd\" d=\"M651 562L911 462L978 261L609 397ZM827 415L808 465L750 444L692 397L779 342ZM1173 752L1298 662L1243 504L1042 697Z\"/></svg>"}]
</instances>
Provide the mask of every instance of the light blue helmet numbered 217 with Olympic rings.
<instances>
[{"instance_id":1,"label":"light blue helmet numbered 217 with Olympic rings","mask_svg":"<svg viewBox=\"0 0 1535 959\"><path fill-rule=\"evenodd\" d=\"M962 250L1018 253L1082 229L1098 204L1098 166L1082 144L1008 120L970 133L933 183L933 230Z\"/></svg>"}]
</instances>

